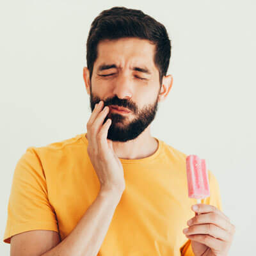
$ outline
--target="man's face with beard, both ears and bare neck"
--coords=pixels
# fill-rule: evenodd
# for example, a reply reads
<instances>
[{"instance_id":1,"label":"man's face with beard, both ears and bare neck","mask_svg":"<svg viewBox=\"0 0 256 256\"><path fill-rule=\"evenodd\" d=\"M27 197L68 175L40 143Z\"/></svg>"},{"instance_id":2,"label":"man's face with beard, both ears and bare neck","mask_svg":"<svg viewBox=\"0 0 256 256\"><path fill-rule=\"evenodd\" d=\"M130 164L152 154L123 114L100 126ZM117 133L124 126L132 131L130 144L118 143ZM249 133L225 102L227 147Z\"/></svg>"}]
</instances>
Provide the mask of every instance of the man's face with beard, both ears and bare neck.
<instances>
[{"instance_id":1,"label":"man's face with beard, both ears and bare neck","mask_svg":"<svg viewBox=\"0 0 256 256\"><path fill-rule=\"evenodd\" d=\"M155 47L140 38L100 41L91 81L88 68L83 69L92 111L100 100L104 106L116 105L131 111L122 115L109 110L103 122L111 118L108 139L113 141L116 156L122 159L148 157L158 148L157 140L150 134L150 124L156 116L157 103L166 99L172 88L173 77L164 76L159 90L159 71L153 61ZM116 68L98 71L103 63L115 64ZM151 74L132 67L147 67ZM100 76L106 74L113 75Z\"/></svg>"}]
</instances>

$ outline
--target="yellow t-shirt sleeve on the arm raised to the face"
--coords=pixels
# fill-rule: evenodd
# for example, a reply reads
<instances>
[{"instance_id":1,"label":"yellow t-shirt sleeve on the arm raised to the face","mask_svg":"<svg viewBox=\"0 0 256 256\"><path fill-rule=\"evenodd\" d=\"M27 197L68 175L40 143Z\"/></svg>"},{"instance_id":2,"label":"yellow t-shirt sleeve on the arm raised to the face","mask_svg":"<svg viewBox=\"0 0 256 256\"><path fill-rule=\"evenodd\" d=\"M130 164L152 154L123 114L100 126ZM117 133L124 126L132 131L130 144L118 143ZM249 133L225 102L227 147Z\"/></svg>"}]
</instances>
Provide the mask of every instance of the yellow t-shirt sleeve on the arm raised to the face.
<instances>
[{"instance_id":1,"label":"yellow t-shirt sleeve on the arm raised to the face","mask_svg":"<svg viewBox=\"0 0 256 256\"><path fill-rule=\"evenodd\" d=\"M47 182L35 147L29 147L16 164L10 198L4 243L29 230L58 232L56 214L47 195Z\"/></svg>"}]
</instances>

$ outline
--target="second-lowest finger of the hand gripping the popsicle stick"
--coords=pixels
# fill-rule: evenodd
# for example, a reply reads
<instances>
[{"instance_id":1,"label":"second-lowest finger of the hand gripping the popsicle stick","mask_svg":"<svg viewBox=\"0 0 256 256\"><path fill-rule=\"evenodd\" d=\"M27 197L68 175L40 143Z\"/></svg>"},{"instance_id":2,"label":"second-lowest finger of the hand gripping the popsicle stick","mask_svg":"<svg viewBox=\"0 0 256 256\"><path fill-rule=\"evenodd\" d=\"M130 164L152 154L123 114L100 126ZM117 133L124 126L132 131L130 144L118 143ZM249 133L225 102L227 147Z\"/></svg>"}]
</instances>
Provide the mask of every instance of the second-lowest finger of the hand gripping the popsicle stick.
<instances>
[{"instance_id":1,"label":"second-lowest finger of the hand gripping the popsicle stick","mask_svg":"<svg viewBox=\"0 0 256 256\"><path fill-rule=\"evenodd\" d=\"M212 223L190 226L188 228L188 232L186 232L186 235L195 234L210 235L226 242L230 241L232 237L232 235L228 233L226 230L223 230L222 228Z\"/></svg>"}]
</instances>

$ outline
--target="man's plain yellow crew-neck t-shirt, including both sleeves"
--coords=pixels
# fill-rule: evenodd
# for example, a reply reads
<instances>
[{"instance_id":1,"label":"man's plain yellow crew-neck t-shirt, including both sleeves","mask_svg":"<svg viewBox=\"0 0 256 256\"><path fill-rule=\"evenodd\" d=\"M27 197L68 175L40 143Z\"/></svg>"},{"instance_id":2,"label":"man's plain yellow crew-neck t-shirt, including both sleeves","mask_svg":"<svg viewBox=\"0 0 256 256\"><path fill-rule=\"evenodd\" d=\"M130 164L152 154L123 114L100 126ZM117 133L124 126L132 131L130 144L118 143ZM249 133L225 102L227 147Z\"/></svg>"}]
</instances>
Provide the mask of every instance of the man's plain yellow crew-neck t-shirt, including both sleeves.
<instances>
[{"instance_id":1,"label":"man's plain yellow crew-neck t-shirt, including both sleeves","mask_svg":"<svg viewBox=\"0 0 256 256\"><path fill-rule=\"evenodd\" d=\"M97 198L99 179L87 154L86 133L28 147L13 173L4 243L28 230L55 230L61 241ZM156 138L157 139L157 138ZM186 154L157 139L159 147L143 159L120 159L125 190L100 256L193 256L183 234L195 216L188 197ZM218 182L209 171L211 196L202 200L222 211Z\"/></svg>"}]
</instances>

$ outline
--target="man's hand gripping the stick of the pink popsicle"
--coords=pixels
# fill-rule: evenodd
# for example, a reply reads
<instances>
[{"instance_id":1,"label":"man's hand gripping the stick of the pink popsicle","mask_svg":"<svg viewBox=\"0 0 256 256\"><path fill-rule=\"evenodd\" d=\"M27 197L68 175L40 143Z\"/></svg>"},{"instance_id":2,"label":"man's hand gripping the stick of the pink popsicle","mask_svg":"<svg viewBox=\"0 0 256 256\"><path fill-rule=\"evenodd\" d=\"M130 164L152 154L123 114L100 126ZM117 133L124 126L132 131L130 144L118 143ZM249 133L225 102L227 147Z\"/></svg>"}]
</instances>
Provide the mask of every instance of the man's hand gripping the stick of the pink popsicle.
<instances>
[{"instance_id":1,"label":"man's hand gripping the stick of the pink popsicle","mask_svg":"<svg viewBox=\"0 0 256 256\"><path fill-rule=\"evenodd\" d=\"M235 226L213 205L196 205L198 209L192 207L195 217L188 221L188 231L183 230L191 240L193 253L195 256L227 256L236 232Z\"/></svg>"}]
</instances>

